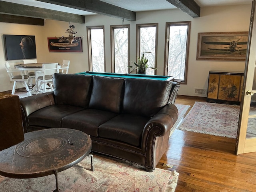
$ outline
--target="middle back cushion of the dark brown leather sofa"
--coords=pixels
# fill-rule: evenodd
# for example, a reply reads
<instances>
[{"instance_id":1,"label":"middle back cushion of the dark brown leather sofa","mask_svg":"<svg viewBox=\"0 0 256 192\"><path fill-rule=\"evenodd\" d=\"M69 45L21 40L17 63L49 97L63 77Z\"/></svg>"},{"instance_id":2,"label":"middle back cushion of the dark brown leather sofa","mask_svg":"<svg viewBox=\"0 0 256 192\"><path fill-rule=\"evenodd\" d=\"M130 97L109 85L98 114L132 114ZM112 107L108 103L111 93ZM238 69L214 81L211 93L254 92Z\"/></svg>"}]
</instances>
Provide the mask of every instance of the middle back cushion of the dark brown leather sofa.
<instances>
[{"instance_id":1,"label":"middle back cushion of the dark brown leather sofa","mask_svg":"<svg viewBox=\"0 0 256 192\"><path fill-rule=\"evenodd\" d=\"M124 79L101 76L93 77L89 108L120 113L123 97Z\"/></svg>"}]
</instances>

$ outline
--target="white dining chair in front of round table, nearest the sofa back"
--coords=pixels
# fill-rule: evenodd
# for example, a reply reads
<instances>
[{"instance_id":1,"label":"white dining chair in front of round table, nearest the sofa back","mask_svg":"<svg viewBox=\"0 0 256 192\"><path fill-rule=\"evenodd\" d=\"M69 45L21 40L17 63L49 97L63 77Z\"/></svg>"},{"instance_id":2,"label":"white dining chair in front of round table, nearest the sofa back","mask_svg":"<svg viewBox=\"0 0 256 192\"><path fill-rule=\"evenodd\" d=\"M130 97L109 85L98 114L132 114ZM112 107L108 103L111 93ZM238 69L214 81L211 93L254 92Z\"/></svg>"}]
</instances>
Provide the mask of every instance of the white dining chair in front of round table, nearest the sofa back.
<instances>
[{"instance_id":1,"label":"white dining chair in front of round table, nearest the sofa back","mask_svg":"<svg viewBox=\"0 0 256 192\"><path fill-rule=\"evenodd\" d=\"M35 71L36 81L38 83L38 92L36 94L41 92L42 86L42 92L45 93L47 84L50 86L50 91L53 91L52 75L57 72L58 63L43 63L42 71Z\"/></svg>"}]
</instances>

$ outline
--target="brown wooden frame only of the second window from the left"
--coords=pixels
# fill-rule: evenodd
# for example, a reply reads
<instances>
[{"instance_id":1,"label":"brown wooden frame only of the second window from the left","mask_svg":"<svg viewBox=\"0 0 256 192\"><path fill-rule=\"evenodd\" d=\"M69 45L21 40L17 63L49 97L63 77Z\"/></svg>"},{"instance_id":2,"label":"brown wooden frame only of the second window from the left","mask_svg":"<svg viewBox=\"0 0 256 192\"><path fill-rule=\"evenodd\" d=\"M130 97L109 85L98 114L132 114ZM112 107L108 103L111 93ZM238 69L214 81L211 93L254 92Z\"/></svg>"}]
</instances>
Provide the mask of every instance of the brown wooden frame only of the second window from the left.
<instances>
[{"instance_id":1,"label":"brown wooden frame only of the second window from the left","mask_svg":"<svg viewBox=\"0 0 256 192\"><path fill-rule=\"evenodd\" d=\"M125 25L110 25L110 51L111 51L111 72L115 72L115 48L114 48L114 29L128 28L128 64L130 60L130 24ZM130 68L128 68L130 73Z\"/></svg>"}]
</instances>

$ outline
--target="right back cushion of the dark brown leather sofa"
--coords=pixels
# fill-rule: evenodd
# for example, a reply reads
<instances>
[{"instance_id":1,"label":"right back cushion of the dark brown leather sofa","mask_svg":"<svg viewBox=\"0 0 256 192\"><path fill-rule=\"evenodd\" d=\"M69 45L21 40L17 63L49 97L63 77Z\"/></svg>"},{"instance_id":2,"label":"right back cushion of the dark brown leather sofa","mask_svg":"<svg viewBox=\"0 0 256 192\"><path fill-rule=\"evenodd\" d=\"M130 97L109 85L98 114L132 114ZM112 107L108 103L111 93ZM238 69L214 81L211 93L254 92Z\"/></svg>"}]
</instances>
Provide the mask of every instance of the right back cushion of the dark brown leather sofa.
<instances>
[{"instance_id":1,"label":"right back cushion of the dark brown leather sofa","mask_svg":"<svg viewBox=\"0 0 256 192\"><path fill-rule=\"evenodd\" d=\"M124 86L124 112L154 116L168 103L170 81L127 78Z\"/></svg>"}]
</instances>

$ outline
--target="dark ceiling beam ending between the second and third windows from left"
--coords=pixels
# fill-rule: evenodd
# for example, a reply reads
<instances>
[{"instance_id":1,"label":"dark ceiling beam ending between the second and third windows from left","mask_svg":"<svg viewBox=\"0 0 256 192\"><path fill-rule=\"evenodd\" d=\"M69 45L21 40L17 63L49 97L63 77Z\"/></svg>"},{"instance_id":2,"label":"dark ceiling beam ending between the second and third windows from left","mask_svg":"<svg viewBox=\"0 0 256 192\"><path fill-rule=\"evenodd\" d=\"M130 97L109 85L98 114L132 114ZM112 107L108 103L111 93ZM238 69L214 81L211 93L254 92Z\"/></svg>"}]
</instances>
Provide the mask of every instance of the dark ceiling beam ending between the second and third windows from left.
<instances>
[{"instance_id":1,"label":"dark ceiling beam ending between the second and third windows from left","mask_svg":"<svg viewBox=\"0 0 256 192\"><path fill-rule=\"evenodd\" d=\"M38 0L41 2L70 7L96 14L120 18L128 21L136 20L136 13L100 0Z\"/></svg>"}]
</instances>

